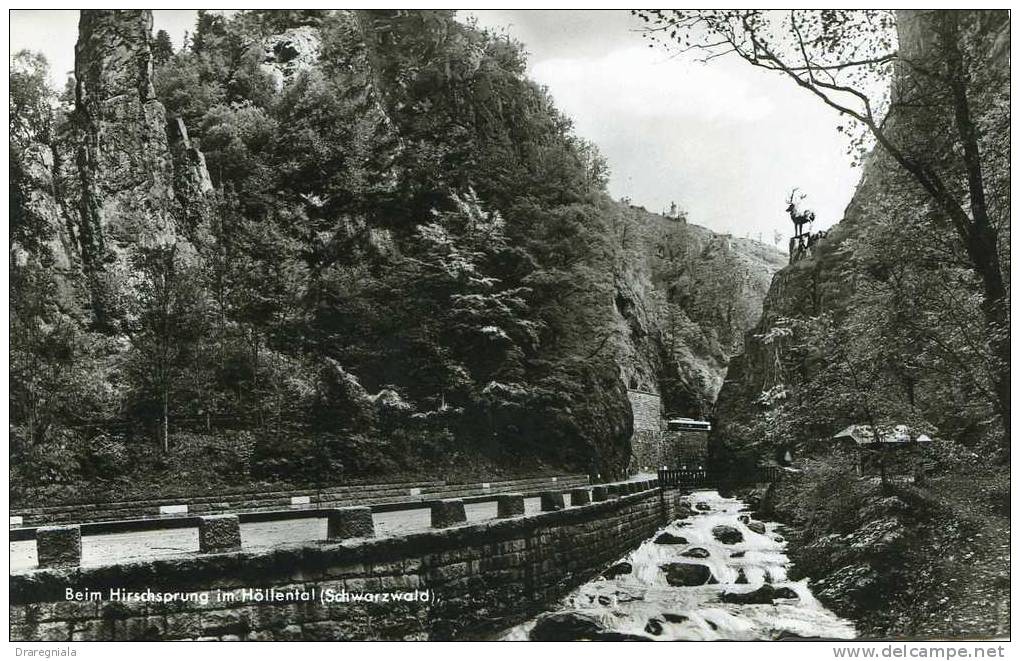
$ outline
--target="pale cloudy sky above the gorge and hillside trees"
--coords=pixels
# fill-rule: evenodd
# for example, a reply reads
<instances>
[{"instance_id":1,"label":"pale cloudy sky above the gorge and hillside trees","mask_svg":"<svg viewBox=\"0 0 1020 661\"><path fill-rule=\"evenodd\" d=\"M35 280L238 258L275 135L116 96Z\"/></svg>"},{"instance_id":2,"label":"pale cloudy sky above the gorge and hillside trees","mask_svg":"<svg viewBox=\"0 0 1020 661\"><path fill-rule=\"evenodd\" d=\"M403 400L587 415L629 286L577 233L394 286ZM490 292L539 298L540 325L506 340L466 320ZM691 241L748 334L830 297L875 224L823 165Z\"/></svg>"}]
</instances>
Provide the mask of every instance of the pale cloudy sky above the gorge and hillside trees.
<instances>
[{"instance_id":1,"label":"pale cloudy sky above the gorge and hillside trees","mask_svg":"<svg viewBox=\"0 0 1020 661\"><path fill-rule=\"evenodd\" d=\"M153 13L154 29L178 46L193 29L194 11ZM784 208L795 186L809 195L815 230L842 217L860 172L850 166L836 115L778 74L649 48L626 11L466 14L524 43L531 78L608 158L613 197L653 211L676 201L693 222L766 242L774 231L792 234ZM78 11L11 11L11 52L42 51L61 86L74 65L76 33Z\"/></svg>"}]
</instances>

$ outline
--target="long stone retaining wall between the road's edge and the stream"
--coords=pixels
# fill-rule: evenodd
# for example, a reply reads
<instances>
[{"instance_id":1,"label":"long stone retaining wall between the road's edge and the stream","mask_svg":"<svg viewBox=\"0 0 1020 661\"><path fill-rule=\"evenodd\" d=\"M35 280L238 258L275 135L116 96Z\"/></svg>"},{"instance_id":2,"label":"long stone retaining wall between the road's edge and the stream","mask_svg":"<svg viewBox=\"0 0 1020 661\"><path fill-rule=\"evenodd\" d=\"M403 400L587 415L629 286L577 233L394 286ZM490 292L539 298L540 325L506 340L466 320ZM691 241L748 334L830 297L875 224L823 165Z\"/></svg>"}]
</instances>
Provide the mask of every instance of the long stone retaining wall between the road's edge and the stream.
<instances>
[{"instance_id":1,"label":"long stone retaining wall between the road's edge and the stream","mask_svg":"<svg viewBox=\"0 0 1020 661\"><path fill-rule=\"evenodd\" d=\"M10 638L482 639L596 576L675 516L678 498L676 491L651 489L401 537L33 570L10 576ZM193 596L166 603L111 601L111 589ZM244 592L250 589L275 589L277 595L290 592L310 601L256 602ZM100 599L67 600L68 590L96 592ZM340 599L396 593L427 595L427 601L323 603L326 591Z\"/></svg>"}]
</instances>

